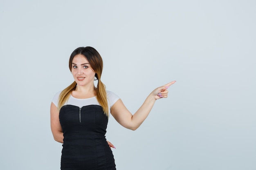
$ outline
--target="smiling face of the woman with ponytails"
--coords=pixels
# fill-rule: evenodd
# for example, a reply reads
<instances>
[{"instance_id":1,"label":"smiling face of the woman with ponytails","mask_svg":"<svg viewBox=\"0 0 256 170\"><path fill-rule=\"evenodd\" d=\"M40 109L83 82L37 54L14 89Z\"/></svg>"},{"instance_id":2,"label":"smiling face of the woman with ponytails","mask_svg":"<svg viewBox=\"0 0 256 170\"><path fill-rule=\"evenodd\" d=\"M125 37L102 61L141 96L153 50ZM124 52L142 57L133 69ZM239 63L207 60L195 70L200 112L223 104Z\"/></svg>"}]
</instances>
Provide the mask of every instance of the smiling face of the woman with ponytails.
<instances>
[{"instance_id":1,"label":"smiling face of the woman with ponytails","mask_svg":"<svg viewBox=\"0 0 256 170\"><path fill-rule=\"evenodd\" d=\"M78 86L93 85L95 72L88 60L81 54L75 55L72 60L72 75Z\"/></svg>"}]
</instances>

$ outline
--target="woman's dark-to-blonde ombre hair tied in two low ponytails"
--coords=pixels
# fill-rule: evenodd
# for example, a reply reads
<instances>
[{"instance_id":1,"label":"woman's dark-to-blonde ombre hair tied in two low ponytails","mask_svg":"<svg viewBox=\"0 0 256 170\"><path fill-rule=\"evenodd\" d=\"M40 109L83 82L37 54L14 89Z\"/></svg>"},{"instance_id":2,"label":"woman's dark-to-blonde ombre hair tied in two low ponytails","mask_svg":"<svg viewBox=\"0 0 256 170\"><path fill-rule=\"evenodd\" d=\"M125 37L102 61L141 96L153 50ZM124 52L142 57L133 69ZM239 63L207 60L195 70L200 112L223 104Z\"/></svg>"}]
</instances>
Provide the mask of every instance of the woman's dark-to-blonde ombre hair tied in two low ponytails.
<instances>
[{"instance_id":1,"label":"woman's dark-to-blonde ombre hair tied in two low ponytails","mask_svg":"<svg viewBox=\"0 0 256 170\"><path fill-rule=\"evenodd\" d=\"M92 67L92 70L95 72L95 77L98 79L98 85L96 88L96 97L99 104L103 108L104 114L106 116L109 116L106 86L101 82L101 73L103 69L103 61L102 61L101 55L98 53L96 49L90 46L79 47L75 49L70 55L70 60L69 60L70 71L72 69L72 60L74 56L78 54L83 55L88 60L88 62L90 63L90 66ZM70 86L68 86L61 92L60 97L58 99L58 109L60 109L65 104L65 102L67 102L72 91L76 89L76 85L77 84L74 81L72 84L70 84Z\"/></svg>"}]
</instances>

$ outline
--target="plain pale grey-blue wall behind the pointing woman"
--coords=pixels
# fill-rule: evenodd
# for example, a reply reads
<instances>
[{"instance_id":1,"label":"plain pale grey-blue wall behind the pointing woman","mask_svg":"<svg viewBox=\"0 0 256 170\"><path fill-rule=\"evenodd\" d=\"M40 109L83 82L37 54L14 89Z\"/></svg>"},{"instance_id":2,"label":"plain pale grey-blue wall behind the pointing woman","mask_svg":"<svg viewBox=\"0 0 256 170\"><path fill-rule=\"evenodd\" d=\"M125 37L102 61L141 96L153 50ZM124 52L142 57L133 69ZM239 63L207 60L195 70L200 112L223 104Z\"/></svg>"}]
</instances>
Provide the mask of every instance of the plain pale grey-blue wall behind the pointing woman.
<instances>
[{"instance_id":1,"label":"plain pale grey-blue wall behind the pointing woman","mask_svg":"<svg viewBox=\"0 0 256 170\"><path fill-rule=\"evenodd\" d=\"M58 170L52 97L79 46L134 113L173 80L136 131L113 117L118 170L256 169L254 0L1 0L0 169Z\"/></svg>"}]
</instances>

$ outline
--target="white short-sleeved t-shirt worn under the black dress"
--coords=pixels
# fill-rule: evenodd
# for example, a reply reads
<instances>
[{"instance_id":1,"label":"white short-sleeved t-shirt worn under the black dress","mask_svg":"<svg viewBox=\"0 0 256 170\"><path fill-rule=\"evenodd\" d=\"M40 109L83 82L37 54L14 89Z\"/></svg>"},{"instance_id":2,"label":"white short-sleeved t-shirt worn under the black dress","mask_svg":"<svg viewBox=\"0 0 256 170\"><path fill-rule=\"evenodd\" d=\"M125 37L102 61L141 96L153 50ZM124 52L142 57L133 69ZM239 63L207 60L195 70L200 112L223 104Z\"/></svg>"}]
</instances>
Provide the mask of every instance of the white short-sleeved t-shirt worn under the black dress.
<instances>
[{"instance_id":1,"label":"white short-sleeved t-shirt worn under the black dress","mask_svg":"<svg viewBox=\"0 0 256 170\"><path fill-rule=\"evenodd\" d=\"M106 91L107 92L107 97L108 97L108 110L110 113L110 108L115 104L115 102L117 102L118 99L120 99L115 93L113 93L112 91ZM56 93L52 99L52 103L58 107L58 97L60 96L61 91L59 91L58 93ZM64 105L74 105L74 106L78 106L78 107L83 107L83 106L88 106L88 105L99 105L99 102L96 98L96 96L88 98L88 99L77 99L75 97L73 97L72 95L70 95L69 99L67 100L67 102Z\"/></svg>"}]
</instances>

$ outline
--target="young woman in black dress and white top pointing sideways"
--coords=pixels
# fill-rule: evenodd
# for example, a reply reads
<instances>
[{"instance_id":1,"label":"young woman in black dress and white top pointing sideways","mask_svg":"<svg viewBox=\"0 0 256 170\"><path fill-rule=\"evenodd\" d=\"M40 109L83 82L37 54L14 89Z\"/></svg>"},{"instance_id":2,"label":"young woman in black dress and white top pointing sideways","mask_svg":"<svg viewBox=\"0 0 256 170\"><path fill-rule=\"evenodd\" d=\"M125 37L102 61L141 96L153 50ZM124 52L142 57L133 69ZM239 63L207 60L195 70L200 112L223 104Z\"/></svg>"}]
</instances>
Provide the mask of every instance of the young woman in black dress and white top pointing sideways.
<instances>
[{"instance_id":1,"label":"young woman in black dress and white top pointing sideways","mask_svg":"<svg viewBox=\"0 0 256 170\"><path fill-rule=\"evenodd\" d=\"M50 110L53 137L63 143L61 170L116 170L110 149L114 146L105 138L109 114L125 128L136 130L175 81L152 91L132 115L115 93L106 91L101 82L102 58L94 48L75 49L69 67L74 82L56 93Z\"/></svg>"}]
</instances>

